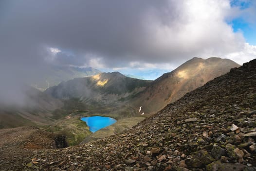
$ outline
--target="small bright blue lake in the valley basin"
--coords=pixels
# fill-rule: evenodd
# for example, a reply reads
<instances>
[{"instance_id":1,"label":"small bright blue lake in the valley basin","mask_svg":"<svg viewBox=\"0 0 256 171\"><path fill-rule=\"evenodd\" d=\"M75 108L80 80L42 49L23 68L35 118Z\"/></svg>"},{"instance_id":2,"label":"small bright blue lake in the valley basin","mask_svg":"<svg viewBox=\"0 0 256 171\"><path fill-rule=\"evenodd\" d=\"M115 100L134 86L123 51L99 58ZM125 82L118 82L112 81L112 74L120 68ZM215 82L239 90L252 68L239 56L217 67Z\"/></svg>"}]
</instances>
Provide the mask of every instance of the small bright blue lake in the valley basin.
<instances>
[{"instance_id":1,"label":"small bright blue lake in the valley basin","mask_svg":"<svg viewBox=\"0 0 256 171\"><path fill-rule=\"evenodd\" d=\"M102 116L91 116L81 118L82 121L86 122L91 132L96 132L99 129L108 127L116 122L115 119Z\"/></svg>"}]
</instances>

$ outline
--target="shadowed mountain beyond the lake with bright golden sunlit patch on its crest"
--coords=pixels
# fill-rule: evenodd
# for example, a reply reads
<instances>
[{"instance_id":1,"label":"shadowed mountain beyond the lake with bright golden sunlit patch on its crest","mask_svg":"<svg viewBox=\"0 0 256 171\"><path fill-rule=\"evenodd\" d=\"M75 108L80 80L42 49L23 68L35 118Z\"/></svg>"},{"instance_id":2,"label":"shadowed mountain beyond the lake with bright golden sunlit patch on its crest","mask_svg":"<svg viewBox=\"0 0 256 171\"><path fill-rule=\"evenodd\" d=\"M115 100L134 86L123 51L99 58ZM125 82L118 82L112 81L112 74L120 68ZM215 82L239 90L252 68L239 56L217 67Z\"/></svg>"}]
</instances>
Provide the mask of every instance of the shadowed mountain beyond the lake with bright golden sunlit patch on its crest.
<instances>
[{"instance_id":1,"label":"shadowed mountain beyond the lake with bright golden sunlit patch on its crest","mask_svg":"<svg viewBox=\"0 0 256 171\"><path fill-rule=\"evenodd\" d=\"M101 73L62 82L45 92L58 99L79 98L86 104L104 106L127 100L151 82L129 78L119 72Z\"/></svg>"}]
</instances>

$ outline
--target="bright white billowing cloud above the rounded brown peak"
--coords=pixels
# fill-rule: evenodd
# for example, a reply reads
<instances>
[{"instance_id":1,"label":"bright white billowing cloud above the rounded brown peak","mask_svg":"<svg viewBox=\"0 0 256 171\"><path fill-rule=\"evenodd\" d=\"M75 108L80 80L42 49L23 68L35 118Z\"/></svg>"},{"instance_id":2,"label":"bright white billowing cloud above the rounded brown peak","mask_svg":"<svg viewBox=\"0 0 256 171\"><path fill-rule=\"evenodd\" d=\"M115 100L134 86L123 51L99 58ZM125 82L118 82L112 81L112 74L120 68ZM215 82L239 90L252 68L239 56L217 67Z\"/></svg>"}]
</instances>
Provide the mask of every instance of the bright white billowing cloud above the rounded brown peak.
<instances>
[{"instance_id":1,"label":"bright white billowing cloud above the rounded brown peak","mask_svg":"<svg viewBox=\"0 0 256 171\"><path fill-rule=\"evenodd\" d=\"M223 55L242 48L242 34L234 33L225 22L231 12L228 0L170 0L169 5L166 13L170 18L159 11L150 11L147 16L152 41L146 45L160 57Z\"/></svg>"}]
</instances>

